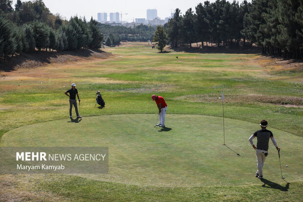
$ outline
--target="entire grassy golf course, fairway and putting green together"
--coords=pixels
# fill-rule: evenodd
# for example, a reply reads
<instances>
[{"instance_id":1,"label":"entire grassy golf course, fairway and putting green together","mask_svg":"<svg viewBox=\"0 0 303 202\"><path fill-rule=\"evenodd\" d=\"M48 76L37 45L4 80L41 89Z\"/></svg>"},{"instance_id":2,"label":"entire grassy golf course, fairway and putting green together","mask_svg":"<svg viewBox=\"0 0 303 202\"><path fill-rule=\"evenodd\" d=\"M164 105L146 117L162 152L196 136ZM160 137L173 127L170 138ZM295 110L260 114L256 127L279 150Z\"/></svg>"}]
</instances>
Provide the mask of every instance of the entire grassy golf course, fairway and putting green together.
<instances>
[{"instance_id":1,"label":"entire grassy golf course, fairway and putting green together","mask_svg":"<svg viewBox=\"0 0 303 202\"><path fill-rule=\"evenodd\" d=\"M108 147L108 174L0 174L0 201L302 201L302 67L249 51L102 50L0 72L0 147ZM72 83L82 118L69 118ZM168 105L164 128L152 94ZM262 119L281 151L269 141L260 180L248 139Z\"/></svg>"}]
</instances>

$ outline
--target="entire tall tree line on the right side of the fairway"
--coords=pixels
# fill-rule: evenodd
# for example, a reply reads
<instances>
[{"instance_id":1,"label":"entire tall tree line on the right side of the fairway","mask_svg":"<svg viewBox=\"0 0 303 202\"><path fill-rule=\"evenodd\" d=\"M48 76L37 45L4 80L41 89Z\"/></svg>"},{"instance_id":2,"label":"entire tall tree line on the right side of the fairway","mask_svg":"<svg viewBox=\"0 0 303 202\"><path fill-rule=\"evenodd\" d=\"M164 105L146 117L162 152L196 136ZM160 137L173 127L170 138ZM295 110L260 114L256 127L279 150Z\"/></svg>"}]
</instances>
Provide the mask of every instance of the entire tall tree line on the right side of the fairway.
<instances>
[{"instance_id":1,"label":"entire tall tree line on the right side of the fairway","mask_svg":"<svg viewBox=\"0 0 303 202\"><path fill-rule=\"evenodd\" d=\"M303 0L204 1L184 15L176 9L164 25L173 46L215 43L217 46L256 44L262 53L303 57Z\"/></svg>"}]
</instances>

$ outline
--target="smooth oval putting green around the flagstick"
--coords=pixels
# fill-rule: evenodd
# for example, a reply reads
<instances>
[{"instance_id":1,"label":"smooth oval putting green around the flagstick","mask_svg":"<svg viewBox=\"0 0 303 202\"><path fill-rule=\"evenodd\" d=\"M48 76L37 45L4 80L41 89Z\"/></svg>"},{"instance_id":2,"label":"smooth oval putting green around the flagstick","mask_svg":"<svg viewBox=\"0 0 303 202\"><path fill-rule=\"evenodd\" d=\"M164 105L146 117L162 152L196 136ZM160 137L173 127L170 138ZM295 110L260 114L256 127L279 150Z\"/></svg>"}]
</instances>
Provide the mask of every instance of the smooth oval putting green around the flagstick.
<instances>
[{"instance_id":1,"label":"smooth oval putting green around the flagstick","mask_svg":"<svg viewBox=\"0 0 303 202\"><path fill-rule=\"evenodd\" d=\"M258 182L256 155L248 141L259 130L257 123L226 118L224 146L221 117L167 114L165 129L153 127L156 118L155 114L116 114L43 122L9 131L0 146L106 146L109 174L80 175L94 180L141 186ZM281 147L283 176L302 181L303 138L269 130ZM269 144L263 175L266 180L279 181L278 153Z\"/></svg>"}]
</instances>

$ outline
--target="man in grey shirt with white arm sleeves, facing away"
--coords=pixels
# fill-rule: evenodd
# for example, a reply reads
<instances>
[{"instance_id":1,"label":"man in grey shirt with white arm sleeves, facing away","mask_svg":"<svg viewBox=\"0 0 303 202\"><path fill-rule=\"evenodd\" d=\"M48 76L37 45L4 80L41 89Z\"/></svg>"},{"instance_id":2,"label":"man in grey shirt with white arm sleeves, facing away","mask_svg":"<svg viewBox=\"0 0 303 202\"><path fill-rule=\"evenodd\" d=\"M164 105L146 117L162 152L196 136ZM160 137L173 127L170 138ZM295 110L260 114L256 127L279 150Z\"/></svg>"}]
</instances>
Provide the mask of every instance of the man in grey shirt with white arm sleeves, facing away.
<instances>
[{"instance_id":1,"label":"man in grey shirt with white arm sleeves, facing away","mask_svg":"<svg viewBox=\"0 0 303 202\"><path fill-rule=\"evenodd\" d=\"M269 137L273 144L275 145L276 149L280 151L280 148L277 145L277 142L274 138L274 135L271 131L267 130L267 121L262 120L260 123L261 130L256 131L252 136L250 136L249 141L250 144L253 146L253 148L256 150L256 155L257 155L257 173L256 177L259 179L263 178L263 173L262 173L262 168L265 162L265 158L268 155L268 142L269 142ZM257 137L257 147L254 145L253 139Z\"/></svg>"}]
</instances>

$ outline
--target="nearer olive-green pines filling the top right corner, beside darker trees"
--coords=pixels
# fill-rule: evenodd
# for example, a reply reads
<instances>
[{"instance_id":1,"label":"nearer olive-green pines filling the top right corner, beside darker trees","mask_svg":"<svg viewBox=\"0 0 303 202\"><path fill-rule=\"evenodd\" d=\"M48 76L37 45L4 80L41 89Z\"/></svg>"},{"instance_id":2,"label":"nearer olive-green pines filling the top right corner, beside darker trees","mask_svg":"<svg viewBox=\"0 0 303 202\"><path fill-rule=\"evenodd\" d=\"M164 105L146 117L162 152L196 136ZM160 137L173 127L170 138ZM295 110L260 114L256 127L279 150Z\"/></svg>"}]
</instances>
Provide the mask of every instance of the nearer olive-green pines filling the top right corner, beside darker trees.
<instances>
[{"instance_id":1,"label":"nearer olive-green pines filling the top right corner, beside darker trees","mask_svg":"<svg viewBox=\"0 0 303 202\"><path fill-rule=\"evenodd\" d=\"M253 0L242 32L264 54L303 59L303 0Z\"/></svg>"}]
</instances>

